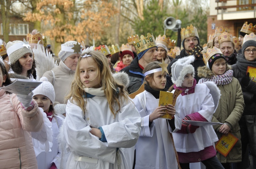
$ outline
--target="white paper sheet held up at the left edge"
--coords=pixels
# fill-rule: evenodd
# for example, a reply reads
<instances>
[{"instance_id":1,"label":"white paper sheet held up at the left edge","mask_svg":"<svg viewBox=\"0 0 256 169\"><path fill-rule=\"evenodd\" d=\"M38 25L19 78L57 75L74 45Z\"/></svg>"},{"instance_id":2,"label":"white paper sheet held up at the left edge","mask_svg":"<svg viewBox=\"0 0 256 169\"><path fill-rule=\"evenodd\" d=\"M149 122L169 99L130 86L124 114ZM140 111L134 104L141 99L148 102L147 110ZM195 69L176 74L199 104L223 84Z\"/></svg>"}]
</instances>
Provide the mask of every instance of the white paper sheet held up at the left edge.
<instances>
[{"instance_id":1,"label":"white paper sheet held up at the left edge","mask_svg":"<svg viewBox=\"0 0 256 169\"><path fill-rule=\"evenodd\" d=\"M15 93L15 94L24 94L28 95L36 87L38 87L42 81L31 81L29 79L17 79L12 84L1 87L5 91Z\"/></svg>"}]
</instances>

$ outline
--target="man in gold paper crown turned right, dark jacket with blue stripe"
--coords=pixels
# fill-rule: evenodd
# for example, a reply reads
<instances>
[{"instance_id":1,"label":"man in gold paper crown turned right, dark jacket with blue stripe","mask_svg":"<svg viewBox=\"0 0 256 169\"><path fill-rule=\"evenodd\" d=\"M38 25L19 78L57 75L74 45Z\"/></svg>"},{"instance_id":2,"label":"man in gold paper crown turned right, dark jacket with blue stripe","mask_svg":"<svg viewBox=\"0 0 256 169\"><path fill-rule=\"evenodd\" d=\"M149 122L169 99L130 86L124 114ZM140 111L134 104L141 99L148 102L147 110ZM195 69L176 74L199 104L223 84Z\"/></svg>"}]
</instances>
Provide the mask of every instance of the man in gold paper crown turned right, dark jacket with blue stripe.
<instances>
[{"instance_id":1,"label":"man in gold paper crown turned right, dark jacket with blue stripe","mask_svg":"<svg viewBox=\"0 0 256 169\"><path fill-rule=\"evenodd\" d=\"M141 35L140 39L136 38L133 44L138 56L132 60L129 66L121 70L130 77L130 84L127 88L129 93L134 93L140 88L145 77L142 73L143 69L148 63L156 61L157 57L157 44L154 36L150 33L147 33L147 37Z\"/></svg>"}]
</instances>

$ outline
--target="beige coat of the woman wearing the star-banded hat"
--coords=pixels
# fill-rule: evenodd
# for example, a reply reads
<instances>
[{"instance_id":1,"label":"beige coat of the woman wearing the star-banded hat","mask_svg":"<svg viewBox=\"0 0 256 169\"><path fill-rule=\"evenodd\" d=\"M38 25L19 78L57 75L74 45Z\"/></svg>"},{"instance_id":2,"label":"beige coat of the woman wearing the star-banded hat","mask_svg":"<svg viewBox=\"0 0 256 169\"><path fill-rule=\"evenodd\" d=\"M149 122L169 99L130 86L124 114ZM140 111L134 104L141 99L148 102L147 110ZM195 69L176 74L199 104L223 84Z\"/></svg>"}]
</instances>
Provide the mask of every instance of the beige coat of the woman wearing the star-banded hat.
<instances>
[{"instance_id":1,"label":"beige coat of the woman wearing the star-banded hat","mask_svg":"<svg viewBox=\"0 0 256 169\"><path fill-rule=\"evenodd\" d=\"M65 96L70 91L70 84L74 79L74 73L75 71L72 71L64 62L60 61L58 67L43 74L43 77L47 77L48 81L53 84L55 101L58 101L60 104L67 104Z\"/></svg>"}]
</instances>

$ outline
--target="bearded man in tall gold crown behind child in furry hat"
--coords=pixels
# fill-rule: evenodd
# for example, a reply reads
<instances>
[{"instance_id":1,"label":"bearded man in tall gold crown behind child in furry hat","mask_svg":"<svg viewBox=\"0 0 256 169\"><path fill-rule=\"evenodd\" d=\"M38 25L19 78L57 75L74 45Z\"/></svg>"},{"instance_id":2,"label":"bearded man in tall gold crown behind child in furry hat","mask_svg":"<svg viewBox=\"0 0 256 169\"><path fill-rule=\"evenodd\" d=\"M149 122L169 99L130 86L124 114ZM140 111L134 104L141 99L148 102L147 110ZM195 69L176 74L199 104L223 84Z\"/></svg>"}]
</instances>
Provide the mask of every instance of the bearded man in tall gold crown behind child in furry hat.
<instances>
[{"instance_id":1,"label":"bearded man in tall gold crown behind child in furry hat","mask_svg":"<svg viewBox=\"0 0 256 169\"><path fill-rule=\"evenodd\" d=\"M199 36L197 33L197 29L195 26L193 26L192 24L190 24L190 26L187 26L187 28L182 28L181 29L181 40L182 40L182 46L183 46L183 50L181 50L180 55L176 56L176 58L171 61L171 63L168 65L168 71L171 74L171 66L174 62L176 62L179 58L183 58L186 56L189 56L189 52L191 52L191 50L197 45L200 44L200 40L199 40ZM195 60L193 63L191 63L193 65L193 67L195 68L195 79L198 82L199 77L197 76L197 68L204 66L204 62L203 62L203 57L202 54L199 53L199 55L197 55L195 57Z\"/></svg>"}]
</instances>

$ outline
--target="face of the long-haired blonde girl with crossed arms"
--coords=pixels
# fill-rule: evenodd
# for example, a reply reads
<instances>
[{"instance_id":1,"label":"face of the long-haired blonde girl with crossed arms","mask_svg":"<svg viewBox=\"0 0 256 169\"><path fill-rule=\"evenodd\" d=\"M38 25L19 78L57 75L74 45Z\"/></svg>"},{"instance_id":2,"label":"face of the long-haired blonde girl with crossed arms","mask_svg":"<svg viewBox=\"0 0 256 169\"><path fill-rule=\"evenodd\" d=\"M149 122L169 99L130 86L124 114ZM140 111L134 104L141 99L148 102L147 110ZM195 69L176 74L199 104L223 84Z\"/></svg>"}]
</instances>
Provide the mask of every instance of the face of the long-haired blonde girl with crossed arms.
<instances>
[{"instance_id":1,"label":"face of the long-haired blonde girl with crossed arms","mask_svg":"<svg viewBox=\"0 0 256 169\"><path fill-rule=\"evenodd\" d=\"M79 63L80 79L86 88L100 88L101 77L98 65L92 57L82 58Z\"/></svg>"}]
</instances>

